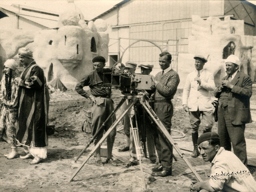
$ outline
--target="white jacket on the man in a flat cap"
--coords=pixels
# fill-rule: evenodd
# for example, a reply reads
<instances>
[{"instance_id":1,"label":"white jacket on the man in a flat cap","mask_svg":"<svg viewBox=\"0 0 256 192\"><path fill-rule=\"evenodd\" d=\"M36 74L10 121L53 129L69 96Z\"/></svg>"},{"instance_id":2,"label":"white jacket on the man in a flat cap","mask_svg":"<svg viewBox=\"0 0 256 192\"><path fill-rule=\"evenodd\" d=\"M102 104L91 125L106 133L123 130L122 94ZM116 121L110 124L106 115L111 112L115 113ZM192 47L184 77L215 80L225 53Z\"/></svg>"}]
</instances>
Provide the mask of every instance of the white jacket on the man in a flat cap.
<instances>
[{"instance_id":1,"label":"white jacket on the man in a flat cap","mask_svg":"<svg viewBox=\"0 0 256 192\"><path fill-rule=\"evenodd\" d=\"M187 104L189 111L209 111L212 110L210 91L216 89L214 77L210 72L202 69L200 74L201 84L197 83L197 71L193 71L187 76L187 80L182 94L182 105Z\"/></svg>"}]
</instances>

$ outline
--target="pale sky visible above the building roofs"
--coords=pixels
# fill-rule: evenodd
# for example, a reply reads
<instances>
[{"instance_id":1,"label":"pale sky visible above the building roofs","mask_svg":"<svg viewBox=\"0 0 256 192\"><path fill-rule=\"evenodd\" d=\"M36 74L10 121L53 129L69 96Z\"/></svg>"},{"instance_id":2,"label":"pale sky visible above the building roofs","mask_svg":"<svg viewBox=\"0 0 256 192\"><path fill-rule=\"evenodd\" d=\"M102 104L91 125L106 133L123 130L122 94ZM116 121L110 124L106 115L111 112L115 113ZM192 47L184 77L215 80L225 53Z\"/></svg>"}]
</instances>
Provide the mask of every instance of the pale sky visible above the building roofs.
<instances>
[{"instance_id":1,"label":"pale sky visible above the building roofs","mask_svg":"<svg viewBox=\"0 0 256 192\"><path fill-rule=\"evenodd\" d=\"M121 0L74 0L74 3L82 11L84 19L90 20L109 10L120 1ZM0 0L0 4L26 5L46 11L61 13L61 10L64 10L65 6L68 4L68 0Z\"/></svg>"}]
</instances>

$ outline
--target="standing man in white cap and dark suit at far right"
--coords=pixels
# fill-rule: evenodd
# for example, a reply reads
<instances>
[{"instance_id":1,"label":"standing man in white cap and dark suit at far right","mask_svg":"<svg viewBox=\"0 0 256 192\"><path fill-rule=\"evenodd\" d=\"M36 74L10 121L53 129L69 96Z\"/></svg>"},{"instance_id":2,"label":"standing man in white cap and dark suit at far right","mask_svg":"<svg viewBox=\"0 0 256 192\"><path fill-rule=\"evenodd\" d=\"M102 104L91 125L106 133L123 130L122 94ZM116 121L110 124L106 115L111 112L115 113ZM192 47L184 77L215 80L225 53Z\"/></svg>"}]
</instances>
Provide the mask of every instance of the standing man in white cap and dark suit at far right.
<instances>
[{"instance_id":1,"label":"standing man in white cap and dark suit at far right","mask_svg":"<svg viewBox=\"0 0 256 192\"><path fill-rule=\"evenodd\" d=\"M226 72L220 86L214 91L219 99L218 104L218 135L221 147L231 151L247 166L246 143L244 129L251 123L250 97L252 96L251 78L238 71L240 60L235 55L227 57Z\"/></svg>"}]
</instances>

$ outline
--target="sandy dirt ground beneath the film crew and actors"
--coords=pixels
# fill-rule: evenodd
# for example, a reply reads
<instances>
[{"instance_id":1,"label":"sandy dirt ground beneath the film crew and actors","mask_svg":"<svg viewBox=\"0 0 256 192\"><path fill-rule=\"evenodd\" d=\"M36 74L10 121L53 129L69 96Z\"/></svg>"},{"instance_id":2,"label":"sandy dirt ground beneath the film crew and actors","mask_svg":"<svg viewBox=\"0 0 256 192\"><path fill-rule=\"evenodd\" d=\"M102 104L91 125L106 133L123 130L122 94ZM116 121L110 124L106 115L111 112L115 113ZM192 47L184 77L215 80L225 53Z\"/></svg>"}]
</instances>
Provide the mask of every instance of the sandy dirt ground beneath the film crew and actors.
<instances>
[{"instance_id":1,"label":"sandy dirt ground beneath the film crew and actors","mask_svg":"<svg viewBox=\"0 0 256 192\"><path fill-rule=\"evenodd\" d=\"M185 133L181 140L191 141L191 131L188 114L181 106L182 90L178 90L173 99L174 116L172 129ZM112 98L115 105L121 100L120 91L114 90ZM252 114L256 115L256 97L251 99ZM144 173L146 190L143 190L141 173L135 167L125 167L125 163L114 159L118 166L104 164L95 166L93 157L87 161L71 182L69 178L75 173L89 152L93 144L85 151L77 163L74 162L91 134L82 132L81 127L85 120L84 110L91 107L89 99L78 95L74 90L65 93L52 94L50 101L49 121L55 125L54 135L49 136L47 158L37 165L30 165L31 159L6 159L4 154L10 151L10 146L0 142L0 191L3 192L141 192L141 191L189 191L189 185L195 178L193 174L181 176L153 177ZM120 114L118 111L117 115ZM119 124L117 127L121 126ZM213 130L217 132L217 124ZM256 139L255 122L246 125L246 138ZM176 140L177 143L179 139ZM191 142L192 143L192 142ZM114 148L118 149L125 144L125 135L117 132ZM106 142L103 142L106 145ZM25 155L19 147L19 155ZM106 158L102 158L103 162ZM203 160L202 160L203 161ZM152 164L152 167L154 164ZM198 172L203 179L207 179L209 170ZM253 174L255 177L255 174Z\"/></svg>"}]
</instances>

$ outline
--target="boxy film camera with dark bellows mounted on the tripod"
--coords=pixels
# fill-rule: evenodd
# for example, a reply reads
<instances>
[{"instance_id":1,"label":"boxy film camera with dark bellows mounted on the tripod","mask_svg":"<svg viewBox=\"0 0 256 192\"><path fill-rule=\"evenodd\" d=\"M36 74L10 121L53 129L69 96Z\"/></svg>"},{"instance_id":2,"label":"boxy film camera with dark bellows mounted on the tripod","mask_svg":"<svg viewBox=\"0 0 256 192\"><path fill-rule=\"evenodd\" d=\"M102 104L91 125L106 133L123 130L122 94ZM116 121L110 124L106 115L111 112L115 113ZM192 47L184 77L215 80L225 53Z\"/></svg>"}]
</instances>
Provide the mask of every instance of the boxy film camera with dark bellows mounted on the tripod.
<instances>
[{"instance_id":1,"label":"boxy film camera with dark bellows mounted on the tripod","mask_svg":"<svg viewBox=\"0 0 256 192\"><path fill-rule=\"evenodd\" d=\"M115 87L121 90L151 90L152 76L142 74L113 74L104 73L103 83L106 87Z\"/></svg>"}]
</instances>

